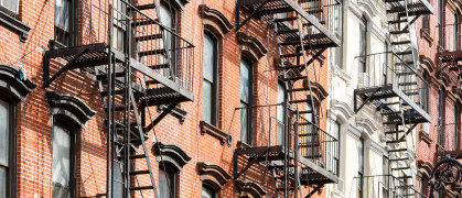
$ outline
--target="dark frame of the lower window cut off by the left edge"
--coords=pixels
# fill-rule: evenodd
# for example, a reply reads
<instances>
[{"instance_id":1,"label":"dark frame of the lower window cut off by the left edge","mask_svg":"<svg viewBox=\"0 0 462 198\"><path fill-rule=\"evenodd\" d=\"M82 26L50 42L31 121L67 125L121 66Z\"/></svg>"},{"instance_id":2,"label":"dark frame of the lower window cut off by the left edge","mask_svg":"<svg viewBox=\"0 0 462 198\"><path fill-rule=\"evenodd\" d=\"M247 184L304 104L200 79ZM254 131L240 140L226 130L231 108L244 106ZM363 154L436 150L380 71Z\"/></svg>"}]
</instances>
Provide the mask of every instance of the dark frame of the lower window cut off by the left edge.
<instances>
[{"instance_id":1,"label":"dark frame of the lower window cut off by the left edge","mask_svg":"<svg viewBox=\"0 0 462 198\"><path fill-rule=\"evenodd\" d=\"M1 165L7 167L7 197L17 197L17 182L18 182L18 102L3 94L0 94L1 101L6 102L9 107L9 140L8 140L8 165Z\"/></svg>"}]
</instances>

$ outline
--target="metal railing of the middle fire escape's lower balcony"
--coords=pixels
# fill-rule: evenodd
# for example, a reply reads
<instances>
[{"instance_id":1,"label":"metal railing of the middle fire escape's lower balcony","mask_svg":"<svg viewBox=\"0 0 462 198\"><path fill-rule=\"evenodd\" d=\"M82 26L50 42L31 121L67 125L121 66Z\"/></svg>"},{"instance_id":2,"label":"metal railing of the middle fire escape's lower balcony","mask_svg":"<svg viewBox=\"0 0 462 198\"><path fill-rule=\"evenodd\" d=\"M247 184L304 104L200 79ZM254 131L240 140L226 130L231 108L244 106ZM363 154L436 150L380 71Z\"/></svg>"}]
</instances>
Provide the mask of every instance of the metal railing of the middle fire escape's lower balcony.
<instances>
[{"instance_id":1,"label":"metal railing of the middle fire escape's lower balcony","mask_svg":"<svg viewBox=\"0 0 462 198\"><path fill-rule=\"evenodd\" d=\"M238 109L253 114L255 139L267 140L259 141L258 146L283 145L292 153L298 150L301 157L337 175L339 140L310 122L312 116L297 114L297 108L283 103Z\"/></svg>"}]
</instances>

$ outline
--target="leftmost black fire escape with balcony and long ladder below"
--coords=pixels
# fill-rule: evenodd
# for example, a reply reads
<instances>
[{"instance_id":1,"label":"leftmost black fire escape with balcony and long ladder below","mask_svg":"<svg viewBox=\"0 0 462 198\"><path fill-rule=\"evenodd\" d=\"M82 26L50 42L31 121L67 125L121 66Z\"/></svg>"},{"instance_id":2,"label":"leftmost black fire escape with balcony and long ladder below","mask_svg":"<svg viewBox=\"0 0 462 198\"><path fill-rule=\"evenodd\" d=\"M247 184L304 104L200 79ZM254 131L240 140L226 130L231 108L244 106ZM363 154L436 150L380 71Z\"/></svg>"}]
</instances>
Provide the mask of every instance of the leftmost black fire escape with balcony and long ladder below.
<instances>
[{"instance_id":1,"label":"leftmost black fire escape with balcony and long ladder below","mask_svg":"<svg viewBox=\"0 0 462 198\"><path fill-rule=\"evenodd\" d=\"M194 46L161 24L159 1L82 3L80 22L88 23L83 38L72 47L51 42L44 87L71 70L96 81L107 117L108 162L106 193L96 197L159 197L146 141L176 105L193 100ZM160 113L150 108L161 105L168 108Z\"/></svg>"}]
</instances>

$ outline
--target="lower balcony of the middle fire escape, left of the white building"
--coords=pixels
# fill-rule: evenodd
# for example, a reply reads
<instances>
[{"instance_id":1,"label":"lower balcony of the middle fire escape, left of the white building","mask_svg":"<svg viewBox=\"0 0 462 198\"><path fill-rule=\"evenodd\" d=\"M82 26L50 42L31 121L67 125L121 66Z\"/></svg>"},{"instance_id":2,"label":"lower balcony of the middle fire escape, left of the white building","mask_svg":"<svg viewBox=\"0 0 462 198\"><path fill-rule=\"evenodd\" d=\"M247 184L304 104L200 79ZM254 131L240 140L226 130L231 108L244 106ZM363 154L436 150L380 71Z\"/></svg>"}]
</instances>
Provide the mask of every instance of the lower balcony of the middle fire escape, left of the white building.
<instances>
[{"instance_id":1,"label":"lower balcony of the middle fire escape, left of the white building","mask_svg":"<svg viewBox=\"0 0 462 198\"><path fill-rule=\"evenodd\" d=\"M281 112L283 108L282 105L269 107L253 109L256 111L255 114L265 114L267 111ZM267 131L272 141L267 145L244 145L236 148L234 179L240 177L251 166L262 165L268 166L269 170L288 170L288 179L291 182L294 182L298 175L300 185L303 186L337 183L339 140L307 120L307 116L301 116L301 111L299 116L297 111L287 112L287 122L281 121L283 120L281 117L258 119L264 123L255 125L265 125L265 129L256 131ZM283 161L289 163L286 164Z\"/></svg>"}]
</instances>

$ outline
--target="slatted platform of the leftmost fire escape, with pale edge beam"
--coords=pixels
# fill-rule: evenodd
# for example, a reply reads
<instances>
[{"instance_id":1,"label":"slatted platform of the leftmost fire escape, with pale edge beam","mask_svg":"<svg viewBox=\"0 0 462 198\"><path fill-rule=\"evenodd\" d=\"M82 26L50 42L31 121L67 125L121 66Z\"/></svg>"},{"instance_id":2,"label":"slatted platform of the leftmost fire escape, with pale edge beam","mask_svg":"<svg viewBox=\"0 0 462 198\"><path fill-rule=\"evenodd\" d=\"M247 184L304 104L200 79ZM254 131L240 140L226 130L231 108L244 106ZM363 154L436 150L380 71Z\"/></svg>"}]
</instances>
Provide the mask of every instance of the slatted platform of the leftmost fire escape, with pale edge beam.
<instances>
[{"instance_id":1,"label":"slatted platform of the leftmost fire escape, with pale edge beam","mask_svg":"<svg viewBox=\"0 0 462 198\"><path fill-rule=\"evenodd\" d=\"M109 45L107 45L106 43L51 50L47 51L45 54L45 62L50 63L50 59L63 58L67 62L67 65L65 66L65 68L60 68L62 69L62 72L77 68L86 68L92 73L94 72L95 66L108 64L109 52L111 52L114 55L112 61L119 64L125 63L126 55L122 52L117 51L116 48L110 48L109 51ZM150 78L150 84L155 85L154 87L147 87L144 95L138 98L142 101L147 101L148 106L159 106L194 100L193 92L182 87L173 79L170 79L159 74L158 72L149 68L148 66L135 59L133 57L130 58L130 66L135 72L142 73L143 75L146 75L147 78ZM46 67L50 66L44 65L44 70L50 73L50 68L46 69ZM146 102L142 103L146 105Z\"/></svg>"}]
</instances>

